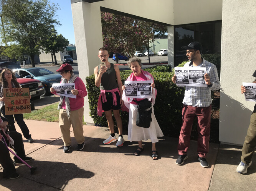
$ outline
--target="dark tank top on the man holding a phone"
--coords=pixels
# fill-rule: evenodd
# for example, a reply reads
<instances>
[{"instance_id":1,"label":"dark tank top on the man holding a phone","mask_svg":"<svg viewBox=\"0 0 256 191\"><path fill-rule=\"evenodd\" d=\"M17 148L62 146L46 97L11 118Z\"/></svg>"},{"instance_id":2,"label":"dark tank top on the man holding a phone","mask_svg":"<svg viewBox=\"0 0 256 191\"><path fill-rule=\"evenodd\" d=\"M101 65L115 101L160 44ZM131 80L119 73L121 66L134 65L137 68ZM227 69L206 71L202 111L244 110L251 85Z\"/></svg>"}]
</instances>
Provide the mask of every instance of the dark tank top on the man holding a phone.
<instances>
[{"instance_id":1,"label":"dark tank top on the man holding a phone","mask_svg":"<svg viewBox=\"0 0 256 191\"><path fill-rule=\"evenodd\" d=\"M98 65L98 73L100 68L101 65ZM107 69L107 71L104 74L102 74L101 85L99 87L102 90L111 90L118 87L116 82L116 70L112 63L110 63L110 68Z\"/></svg>"}]
</instances>

